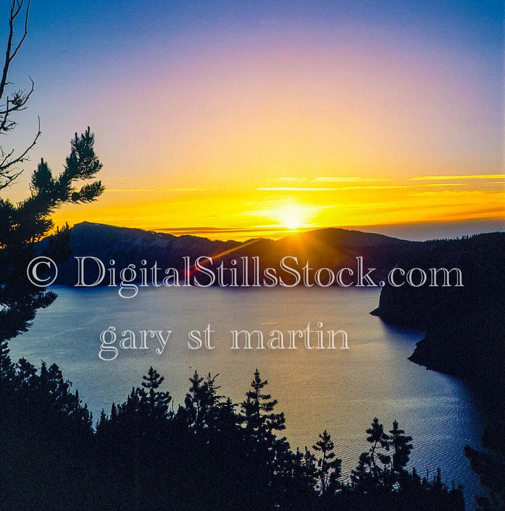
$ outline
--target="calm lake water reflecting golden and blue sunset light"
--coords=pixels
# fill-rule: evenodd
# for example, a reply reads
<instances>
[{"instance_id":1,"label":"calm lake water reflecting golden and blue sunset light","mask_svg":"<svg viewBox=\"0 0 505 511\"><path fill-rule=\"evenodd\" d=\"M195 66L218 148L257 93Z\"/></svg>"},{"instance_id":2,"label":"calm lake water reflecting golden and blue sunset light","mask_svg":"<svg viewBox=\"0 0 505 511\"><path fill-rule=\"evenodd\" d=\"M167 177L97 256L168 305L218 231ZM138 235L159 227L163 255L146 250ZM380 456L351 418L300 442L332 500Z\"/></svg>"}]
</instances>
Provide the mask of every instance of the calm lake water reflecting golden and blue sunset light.
<instances>
[{"instance_id":1,"label":"calm lake water reflecting golden and blue sunset light","mask_svg":"<svg viewBox=\"0 0 505 511\"><path fill-rule=\"evenodd\" d=\"M369 314L377 290L358 289L146 289L124 299L112 289L76 291L57 288L58 298L39 311L33 327L11 342L11 356L32 363L56 362L65 378L98 418L102 408L123 402L140 385L150 365L165 376L176 408L184 400L188 377L219 373L221 393L241 402L257 367L268 391L286 416L291 446L310 447L327 429L347 474L368 449L365 430L374 416L391 429L394 419L414 437L412 464L431 479L436 468L444 479L465 486L473 509L477 478L464 457L465 444L479 446L484 412L467 386L407 360L422 334L394 329ZM345 330L349 350L231 350L232 330ZM211 324L213 350L189 350L187 333ZM132 330L172 330L161 355L159 342L149 350L119 350L110 362L99 359L100 333L114 326ZM166 332L164 332L166 336ZM326 337L325 337L326 339ZM137 338L137 346L139 339ZM254 346L253 342L253 346ZM339 343L336 343L339 346Z\"/></svg>"}]
</instances>

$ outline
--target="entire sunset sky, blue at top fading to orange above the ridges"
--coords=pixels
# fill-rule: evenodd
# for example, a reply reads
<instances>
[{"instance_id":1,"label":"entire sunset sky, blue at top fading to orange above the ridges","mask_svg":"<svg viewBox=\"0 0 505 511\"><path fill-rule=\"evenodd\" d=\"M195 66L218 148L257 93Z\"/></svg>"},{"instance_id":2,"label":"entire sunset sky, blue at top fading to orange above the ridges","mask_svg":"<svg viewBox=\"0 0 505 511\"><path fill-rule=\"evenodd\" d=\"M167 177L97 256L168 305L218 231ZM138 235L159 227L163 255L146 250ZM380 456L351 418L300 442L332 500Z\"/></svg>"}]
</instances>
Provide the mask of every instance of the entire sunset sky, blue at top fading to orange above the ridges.
<instances>
[{"instance_id":1,"label":"entire sunset sky, blue at top fading to orange above the ridges","mask_svg":"<svg viewBox=\"0 0 505 511\"><path fill-rule=\"evenodd\" d=\"M60 172L88 125L104 164L104 194L56 224L503 230L501 2L33 0L10 79L28 75L1 143L24 148L37 116L42 136L4 195L26 197L41 157Z\"/></svg>"}]
</instances>

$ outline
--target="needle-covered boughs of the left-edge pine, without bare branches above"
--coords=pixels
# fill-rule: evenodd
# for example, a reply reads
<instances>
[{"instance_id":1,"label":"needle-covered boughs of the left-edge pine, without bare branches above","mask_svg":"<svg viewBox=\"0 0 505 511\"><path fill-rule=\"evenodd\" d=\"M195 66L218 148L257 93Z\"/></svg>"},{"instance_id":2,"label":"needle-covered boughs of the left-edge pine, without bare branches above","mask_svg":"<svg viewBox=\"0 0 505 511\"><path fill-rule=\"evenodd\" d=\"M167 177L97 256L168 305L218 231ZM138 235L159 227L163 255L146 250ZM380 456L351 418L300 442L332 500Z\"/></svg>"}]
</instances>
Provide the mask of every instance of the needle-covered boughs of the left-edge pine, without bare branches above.
<instances>
[{"instance_id":1,"label":"needle-covered boughs of the left-edge pine, without bare branches above","mask_svg":"<svg viewBox=\"0 0 505 511\"><path fill-rule=\"evenodd\" d=\"M100 181L86 183L80 189L75 182L88 180L102 168L93 150L94 135L88 128L71 141L63 172L54 177L41 160L34 171L31 196L14 205L0 198L0 342L26 332L37 309L48 307L56 299L52 291L33 285L27 268L34 257L34 244L53 227L50 215L65 203L95 200L104 190ZM0 187L1 188L1 187ZM68 252L51 247L55 263Z\"/></svg>"}]
</instances>

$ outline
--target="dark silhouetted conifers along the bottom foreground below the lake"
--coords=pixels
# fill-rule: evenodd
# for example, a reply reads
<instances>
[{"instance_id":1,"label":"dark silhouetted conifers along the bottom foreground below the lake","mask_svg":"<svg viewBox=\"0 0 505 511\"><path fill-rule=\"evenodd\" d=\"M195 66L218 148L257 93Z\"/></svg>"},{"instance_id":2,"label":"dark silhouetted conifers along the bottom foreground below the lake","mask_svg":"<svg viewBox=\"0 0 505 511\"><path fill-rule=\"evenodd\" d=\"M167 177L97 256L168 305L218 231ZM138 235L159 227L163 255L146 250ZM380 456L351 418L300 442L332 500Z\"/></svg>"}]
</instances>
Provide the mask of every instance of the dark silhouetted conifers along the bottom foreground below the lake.
<instances>
[{"instance_id":1,"label":"dark silhouetted conifers along the bottom foreground below the lake","mask_svg":"<svg viewBox=\"0 0 505 511\"><path fill-rule=\"evenodd\" d=\"M373 420L350 478L326 431L293 451L259 371L239 405L195 372L175 410L151 367L93 429L56 364L13 364L6 342L0 354L1 509L464 509L440 472L406 469L412 438L396 421Z\"/></svg>"}]
</instances>

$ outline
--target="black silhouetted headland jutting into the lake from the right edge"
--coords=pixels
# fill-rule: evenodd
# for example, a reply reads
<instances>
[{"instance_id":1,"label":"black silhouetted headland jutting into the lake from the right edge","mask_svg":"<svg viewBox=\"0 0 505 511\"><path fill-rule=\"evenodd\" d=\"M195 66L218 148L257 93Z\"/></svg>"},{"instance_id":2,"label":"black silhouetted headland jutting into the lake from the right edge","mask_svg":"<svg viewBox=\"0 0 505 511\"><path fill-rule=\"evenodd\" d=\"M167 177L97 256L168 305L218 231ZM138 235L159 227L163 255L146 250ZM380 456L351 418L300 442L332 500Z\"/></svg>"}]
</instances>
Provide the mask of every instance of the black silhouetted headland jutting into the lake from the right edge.
<instances>
[{"instance_id":1,"label":"black silhouetted headland jutting into the lake from the right edge","mask_svg":"<svg viewBox=\"0 0 505 511\"><path fill-rule=\"evenodd\" d=\"M426 242L405 269L459 268L464 287L384 286L376 315L425 332L410 360L502 392L505 370L505 233ZM451 278L454 278L451 276Z\"/></svg>"}]
</instances>

